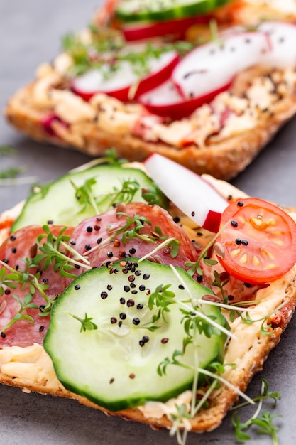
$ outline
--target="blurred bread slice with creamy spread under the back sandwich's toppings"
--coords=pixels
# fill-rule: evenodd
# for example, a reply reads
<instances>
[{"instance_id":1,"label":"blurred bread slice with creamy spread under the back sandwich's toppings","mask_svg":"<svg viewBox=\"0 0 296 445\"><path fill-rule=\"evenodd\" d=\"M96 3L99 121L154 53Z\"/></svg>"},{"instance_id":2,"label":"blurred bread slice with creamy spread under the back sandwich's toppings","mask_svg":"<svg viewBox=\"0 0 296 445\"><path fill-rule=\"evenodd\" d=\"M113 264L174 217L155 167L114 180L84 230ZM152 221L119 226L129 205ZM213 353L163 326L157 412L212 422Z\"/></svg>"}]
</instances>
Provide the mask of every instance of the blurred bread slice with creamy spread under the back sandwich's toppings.
<instances>
[{"instance_id":1,"label":"blurred bread slice with creamy spread under the back sandwich's toppings","mask_svg":"<svg viewBox=\"0 0 296 445\"><path fill-rule=\"evenodd\" d=\"M275 2L259 3L260 7L253 1L231 2L219 10L217 18L222 27L225 23L253 26L266 18L264 11L274 18ZM292 20L295 16L295 11L286 8L278 17ZM194 27L187 38L197 38ZM156 152L199 174L229 180L256 158L296 112L292 68L252 67L210 104L173 120L151 115L137 102L123 103L101 93L85 102L71 90L66 75L69 63L69 56L62 53L53 65L40 66L31 85L11 97L5 114L16 129L37 141L91 156L101 156L113 147L119 157L143 161Z\"/></svg>"}]
</instances>

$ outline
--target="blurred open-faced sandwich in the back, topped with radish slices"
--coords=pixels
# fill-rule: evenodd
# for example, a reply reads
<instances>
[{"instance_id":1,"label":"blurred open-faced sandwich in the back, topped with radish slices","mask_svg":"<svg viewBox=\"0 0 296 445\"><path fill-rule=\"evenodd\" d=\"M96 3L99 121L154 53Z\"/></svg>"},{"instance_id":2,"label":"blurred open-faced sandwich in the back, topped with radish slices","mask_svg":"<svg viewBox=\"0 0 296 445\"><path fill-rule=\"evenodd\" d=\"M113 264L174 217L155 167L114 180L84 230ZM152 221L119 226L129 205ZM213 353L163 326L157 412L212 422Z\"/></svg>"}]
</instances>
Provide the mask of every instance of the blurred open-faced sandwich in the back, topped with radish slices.
<instances>
[{"instance_id":1,"label":"blurred open-faced sandwich in the back, topped with radish slices","mask_svg":"<svg viewBox=\"0 0 296 445\"><path fill-rule=\"evenodd\" d=\"M296 111L294 1L106 1L6 117L38 141L236 176Z\"/></svg>"}]
</instances>

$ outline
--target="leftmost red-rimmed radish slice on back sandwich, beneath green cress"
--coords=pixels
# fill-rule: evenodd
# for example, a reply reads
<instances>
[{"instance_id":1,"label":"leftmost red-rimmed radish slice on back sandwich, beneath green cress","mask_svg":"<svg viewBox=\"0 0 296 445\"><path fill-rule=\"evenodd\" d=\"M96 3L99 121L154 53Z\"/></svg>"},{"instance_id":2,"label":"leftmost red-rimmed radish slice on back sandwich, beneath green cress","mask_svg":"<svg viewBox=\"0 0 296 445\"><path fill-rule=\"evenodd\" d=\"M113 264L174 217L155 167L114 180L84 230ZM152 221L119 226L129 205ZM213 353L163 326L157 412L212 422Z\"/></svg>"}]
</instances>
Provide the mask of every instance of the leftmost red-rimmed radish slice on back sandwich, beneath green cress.
<instances>
[{"instance_id":1,"label":"leftmost red-rimmed radish slice on back sandwich, beneath green cress","mask_svg":"<svg viewBox=\"0 0 296 445\"><path fill-rule=\"evenodd\" d=\"M138 48L135 45L131 48L131 52L136 49ZM143 45L141 45L141 49L143 49ZM72 82L72 90L84 100L89 100L98 92L104 92L122 102L127 102L165 82L170 77L178 60L179 55L175 50L164 52L159 57L150 58L148 60L149 74L141 80L133 70L133 65L126 60L118 62L118 69L114 72L110 70L110 65L106 64L98 70L89 70L87 73L75 77ZM129 97L134 85L136 92L133 97Z\"/></svg>"}]
</instances>

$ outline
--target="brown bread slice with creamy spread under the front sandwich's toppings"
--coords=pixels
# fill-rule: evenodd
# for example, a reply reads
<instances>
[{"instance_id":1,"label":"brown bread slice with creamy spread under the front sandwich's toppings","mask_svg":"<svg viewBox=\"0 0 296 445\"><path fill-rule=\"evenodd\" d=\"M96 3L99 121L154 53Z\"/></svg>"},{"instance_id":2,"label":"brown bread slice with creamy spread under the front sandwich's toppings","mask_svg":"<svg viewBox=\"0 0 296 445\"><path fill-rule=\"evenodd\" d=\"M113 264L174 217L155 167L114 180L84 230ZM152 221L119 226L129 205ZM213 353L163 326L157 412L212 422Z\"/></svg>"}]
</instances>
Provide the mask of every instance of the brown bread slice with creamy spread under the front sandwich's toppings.
<instances>
[{"instance_id":1,"label":"brown bread slice with creamy spread under the front sandwich's toppings","mask_svg":"<svg viewBox=\"0 0 296 445\"><path fill-rule=\"evenodd\" d=\"M229 194L234 197L243 197L244 194L236 188L230 186L224 181L216 181L214 178L207 178L220 193L225 196ZM14 208L11 218L16 217L19 208ZM293 218L296 219L296 210L287 209ZM6 213L5 218L9 220L10 213ZM201 229L195 227L187 218L182 217L182 225L190 237L198 231L198 242L204 240L207 245L212 236L209 232L204 232L204 237L200 237ZM2 232L6 237L6 232ZM296 307L296 266L294 266L283 277L270 283L270 286L257 291L256 299L259 301L253 318L262 318L267 316L268 324L272 328L272 333L266 336L261 332L261 323L246 324L237 318L231 322L231 330L236 338L231 338L226 347L224 358L227 363L235 366L226 366L224 379L229 382L222 384L218 390L215 390L209 396L209 406L201 409L194 419L182 425L190 431L204 432L211 431L221 424L224 416L238 400L238 390L245 391L253 375L263 369L263 363L268 357L270 350L278 344L280 338L289 323ZM283 303L285 303L283 305ZM276 310L281 305L281 309ZM257 316L256 316L257 315ZM42 345L34 344L25 348L12 346L0 350L0 382L4 385L19 387L24 392L39 392L40 394L49 394L60 397L67 397L78 400L95 409L101 409L106 414L114 414L127 420L148 424L153 429L172 427L170 414L175 411L175 401L169 400L166 403L147 402L143 407L126 409L119 412L108 412L106 409L97 406L80 395L65 390L55 376L53 364L49 356L45 353ZM231 386L229 386L231 385ZM202 391L202 390L201 390ZM202 393L202 392L201 392ZM190 403L190 391L180 395L177 399L180 403Z\"/></svg>"}]
</instances>

